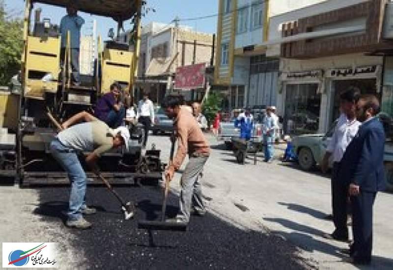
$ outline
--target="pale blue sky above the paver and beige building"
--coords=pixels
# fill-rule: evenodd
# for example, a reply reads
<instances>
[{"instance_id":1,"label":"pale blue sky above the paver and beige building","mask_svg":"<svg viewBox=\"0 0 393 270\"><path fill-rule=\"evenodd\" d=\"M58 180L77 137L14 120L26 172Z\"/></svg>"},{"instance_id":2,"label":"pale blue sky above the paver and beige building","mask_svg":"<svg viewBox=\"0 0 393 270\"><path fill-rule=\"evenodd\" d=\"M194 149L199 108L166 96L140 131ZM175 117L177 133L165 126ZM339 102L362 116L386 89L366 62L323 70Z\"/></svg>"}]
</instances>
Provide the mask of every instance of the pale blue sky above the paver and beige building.
<instances>
[{"instance_id":1,"label":"pale blue sky above the paver and beige building","mask_svg":"<svg viewBox=\"0 0 393 270\"><path fill-rule=\"evenodd\" d=\"M4 0L5 9L13 16L23 17L25 2L23 0ZM45 4L35 4L34 8L42 8L42 18L51 19L52 24L59 24L62 16L66 14L65 8L54 7ZM159 22L169 24L176 16L180 19L196 18L218 13L218 0L147 0L147 7L154 8L156 12L148 13L142 18L142 26L150 22ZM108 36L109 28L116 30L116 23L109 18L91 16L90 14L78 13L85 20L82 28L82 34L92 33L92 22L96 19L97 33L104 39ZM32 15L31 18L34 18ZM206 33L215 33L217 31L217 16L180 22L180 25L193 27L194 30ZM124 24L125 30L131 28L129 22Z\"/></svg>"}]
</instances>

